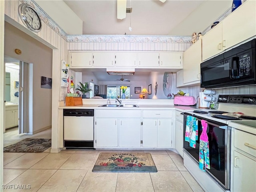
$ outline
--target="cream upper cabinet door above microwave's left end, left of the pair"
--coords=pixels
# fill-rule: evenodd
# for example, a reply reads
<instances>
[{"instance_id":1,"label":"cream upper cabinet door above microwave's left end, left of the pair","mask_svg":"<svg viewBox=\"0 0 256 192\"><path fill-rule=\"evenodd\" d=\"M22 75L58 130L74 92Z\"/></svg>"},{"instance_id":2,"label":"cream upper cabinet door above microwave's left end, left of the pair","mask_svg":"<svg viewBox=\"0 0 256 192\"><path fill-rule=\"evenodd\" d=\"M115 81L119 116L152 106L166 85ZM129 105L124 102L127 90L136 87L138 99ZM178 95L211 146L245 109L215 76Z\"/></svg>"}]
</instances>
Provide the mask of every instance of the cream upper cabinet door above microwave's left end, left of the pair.
<instances>
[{"instance_id":1,"label":"cream upper cabinet door above microwave's left end, left of the pair","mask_svg":"<svg viewBox=\"0 0 256 192\"><path fill-rule=\"evenodd\" d=\"M220 52L222 52L222 22L217 24L203 36L202 60L206 60Z\"/></svg>"}]
</instances>

